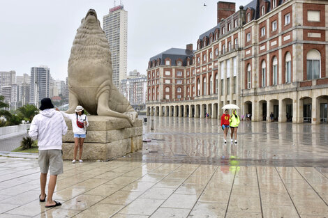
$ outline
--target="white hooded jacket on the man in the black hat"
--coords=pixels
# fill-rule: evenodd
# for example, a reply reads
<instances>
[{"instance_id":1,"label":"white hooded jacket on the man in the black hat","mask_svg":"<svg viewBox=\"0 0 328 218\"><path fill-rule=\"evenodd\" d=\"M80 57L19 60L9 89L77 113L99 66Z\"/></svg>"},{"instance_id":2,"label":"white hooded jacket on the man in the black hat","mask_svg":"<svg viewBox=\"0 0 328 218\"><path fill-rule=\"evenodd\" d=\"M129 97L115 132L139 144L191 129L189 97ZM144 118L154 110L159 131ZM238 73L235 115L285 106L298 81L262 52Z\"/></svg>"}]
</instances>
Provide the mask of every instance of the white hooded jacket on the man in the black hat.
<instances>
[{"instance_id":1,"label":"white hooded jacket on the man in the black hat","mask_svg":"<svg viewBox=\"0 0 328 218\"><path fill-rule=\"evenodd\" d=\"M67 132L67 125L59 111L45 109L34 116L29 136L38 139L38 150L61 150L62 136Z\"/></svg>"}]
</instances>

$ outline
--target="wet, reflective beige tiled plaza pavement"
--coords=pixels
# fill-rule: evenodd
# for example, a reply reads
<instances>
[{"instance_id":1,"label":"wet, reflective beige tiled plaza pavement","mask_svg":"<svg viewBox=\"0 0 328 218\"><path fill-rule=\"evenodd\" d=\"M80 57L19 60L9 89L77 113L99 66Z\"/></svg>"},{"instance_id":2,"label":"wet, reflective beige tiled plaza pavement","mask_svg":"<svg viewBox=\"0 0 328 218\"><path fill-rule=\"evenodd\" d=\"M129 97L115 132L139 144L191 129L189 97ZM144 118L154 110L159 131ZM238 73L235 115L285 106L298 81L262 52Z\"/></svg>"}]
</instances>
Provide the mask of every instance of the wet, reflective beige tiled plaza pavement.
<instances>
[{"instance_id":1,"label":"wet, reflective beige tiled plaza pavement","mask_svg":"<svg viewBox=\"0 0 328 218\"><path fill-rule=\"evenodd\" d=\"M0 157L0 217L328 217L328 125L151 117L144 148L110 162L64 162L38 201L35 158Z\"/></svg>"}]
</instances>

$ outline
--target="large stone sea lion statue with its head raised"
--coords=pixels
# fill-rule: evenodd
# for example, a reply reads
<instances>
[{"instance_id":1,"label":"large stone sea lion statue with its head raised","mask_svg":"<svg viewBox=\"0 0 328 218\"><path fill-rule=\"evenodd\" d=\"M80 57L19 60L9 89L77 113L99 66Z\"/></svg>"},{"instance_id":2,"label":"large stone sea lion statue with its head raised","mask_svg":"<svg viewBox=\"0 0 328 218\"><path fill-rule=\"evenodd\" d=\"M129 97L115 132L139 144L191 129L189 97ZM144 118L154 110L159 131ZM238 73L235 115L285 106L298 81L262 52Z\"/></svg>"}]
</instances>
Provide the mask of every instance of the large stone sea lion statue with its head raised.
<instances>
[{"instance_id":1,"label":"large stone sea lion statue with its head raised","mask_svg":"<svg viewBox=\"0 0 328 218\"><path fill-rule=\"evenodd\" d=\"M69 108L82 105L91 115L126 118L135 123L137 112L112 82L110 45L95 10L82 19L68 60Z\"/></svg>"}]
</instances>

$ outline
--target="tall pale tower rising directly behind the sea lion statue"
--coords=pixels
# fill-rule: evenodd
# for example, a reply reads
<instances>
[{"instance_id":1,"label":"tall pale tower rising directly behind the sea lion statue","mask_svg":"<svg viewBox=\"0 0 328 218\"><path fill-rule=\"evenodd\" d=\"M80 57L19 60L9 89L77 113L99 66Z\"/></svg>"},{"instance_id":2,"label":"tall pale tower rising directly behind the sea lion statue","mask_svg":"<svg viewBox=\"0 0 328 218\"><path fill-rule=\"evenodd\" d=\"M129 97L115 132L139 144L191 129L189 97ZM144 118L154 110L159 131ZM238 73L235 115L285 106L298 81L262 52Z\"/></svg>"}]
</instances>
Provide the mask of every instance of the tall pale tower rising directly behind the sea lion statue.
<instances>
[{"instance_id":1,"label":"tall pale tower rising directly behind the sea lion statue","mask_svg":"<svg viewBox=\"0 0 328 218\"><path fill-rule=\"evenodd\" d=\"M103 17L103 30L112 54L112 80L119 88L119 81L126 79L128 53L128 12L124 6L110 8L110 13Z\"/></svg>"}]
</instances>

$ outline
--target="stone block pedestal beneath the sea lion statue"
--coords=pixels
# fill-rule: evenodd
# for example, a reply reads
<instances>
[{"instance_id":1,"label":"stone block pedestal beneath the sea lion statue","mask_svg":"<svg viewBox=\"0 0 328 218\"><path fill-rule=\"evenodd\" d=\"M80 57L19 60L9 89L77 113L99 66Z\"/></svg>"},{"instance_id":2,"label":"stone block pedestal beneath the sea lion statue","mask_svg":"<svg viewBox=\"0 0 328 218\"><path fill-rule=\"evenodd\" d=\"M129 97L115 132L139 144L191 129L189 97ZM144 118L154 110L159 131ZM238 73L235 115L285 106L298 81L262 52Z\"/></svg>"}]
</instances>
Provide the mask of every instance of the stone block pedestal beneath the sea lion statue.
<instances>
[{"instance_id":1,"label":"stone block pedestal beneath the sea lion statue","mask_svg":"<svg viewBox=\"0 0 328 218\"><path fill-rule=\"evenodd\" d=\"M124 118L88 116L88 120L89 127L83 144L82 159L109 160L142 149L142 120L135 120L132 127ZM67 118L65 121L68 132L63 137L63 159L73 159L72 123Z\"/></svg>"}]
</instances>

